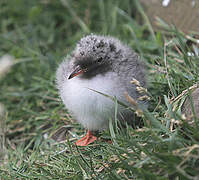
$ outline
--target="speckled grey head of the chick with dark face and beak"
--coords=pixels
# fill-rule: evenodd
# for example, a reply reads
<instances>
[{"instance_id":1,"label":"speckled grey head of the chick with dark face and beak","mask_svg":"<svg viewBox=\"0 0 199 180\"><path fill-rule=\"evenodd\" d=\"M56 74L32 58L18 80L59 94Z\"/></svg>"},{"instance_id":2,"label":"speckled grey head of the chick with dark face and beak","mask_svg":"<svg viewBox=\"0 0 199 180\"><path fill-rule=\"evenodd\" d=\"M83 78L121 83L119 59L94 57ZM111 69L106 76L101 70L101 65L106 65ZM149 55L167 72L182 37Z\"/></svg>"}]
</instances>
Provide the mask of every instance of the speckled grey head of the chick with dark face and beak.
<instances>
[{"instance_id":1,"label":"speckled grey head of the chick with dark face and beak","mask_svg":"<svg viewBox=\"0 0 199 180\"><path fill-rule=\"evenodd\" d=\"M115 54L116 46L111 38L97 35L82 38L72 52L74 67L68 79L78 75L89 78L106 73Z\"/></svg>"}]
</instances>

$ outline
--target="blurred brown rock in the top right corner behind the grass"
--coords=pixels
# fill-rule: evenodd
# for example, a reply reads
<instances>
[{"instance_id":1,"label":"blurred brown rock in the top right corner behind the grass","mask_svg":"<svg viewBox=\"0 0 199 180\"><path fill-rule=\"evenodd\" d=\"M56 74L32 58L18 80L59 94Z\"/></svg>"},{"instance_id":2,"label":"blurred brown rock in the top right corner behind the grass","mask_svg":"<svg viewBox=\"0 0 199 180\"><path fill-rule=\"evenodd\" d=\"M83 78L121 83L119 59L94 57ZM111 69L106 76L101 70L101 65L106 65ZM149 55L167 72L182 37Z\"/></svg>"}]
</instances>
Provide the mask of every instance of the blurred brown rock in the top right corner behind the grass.
<instances>
[{"instance_id":1,"label":"blurred brown rock in the top right corner behind the grass","mask_svg":"<svg viewBox=\"0 0 199 180\"><path fill-rule=\"evenodd\" d=\"M156 17L188 33L199 30L198 0L140 0L151 24L158 29Z\"/></svg>"}]
</instances>

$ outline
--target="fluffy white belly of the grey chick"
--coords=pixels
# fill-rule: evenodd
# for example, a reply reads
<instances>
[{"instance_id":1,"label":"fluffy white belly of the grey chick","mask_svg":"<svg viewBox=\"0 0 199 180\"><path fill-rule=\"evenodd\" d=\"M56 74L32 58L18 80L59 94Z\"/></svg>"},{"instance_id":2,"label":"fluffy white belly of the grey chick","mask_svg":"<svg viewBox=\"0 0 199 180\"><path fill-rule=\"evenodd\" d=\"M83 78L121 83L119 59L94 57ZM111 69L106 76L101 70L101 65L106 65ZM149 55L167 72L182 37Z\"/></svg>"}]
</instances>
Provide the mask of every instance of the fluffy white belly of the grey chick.
<instances>
[{"instance_id":1,"label":"fluffy white belly of the grey chick","mask_svg":"<svg viewBox=\"0 0 199 180\"><path fill-rule=\"evenodd\" d=\"M89 130L106 128L115 110L115 103L111 99L90 89L121 99L124 90L118 89L116 76L106 73L92 79L74 77L63 84L61 98L64 104L73 117Z\"/></svg>"}]
</instances>

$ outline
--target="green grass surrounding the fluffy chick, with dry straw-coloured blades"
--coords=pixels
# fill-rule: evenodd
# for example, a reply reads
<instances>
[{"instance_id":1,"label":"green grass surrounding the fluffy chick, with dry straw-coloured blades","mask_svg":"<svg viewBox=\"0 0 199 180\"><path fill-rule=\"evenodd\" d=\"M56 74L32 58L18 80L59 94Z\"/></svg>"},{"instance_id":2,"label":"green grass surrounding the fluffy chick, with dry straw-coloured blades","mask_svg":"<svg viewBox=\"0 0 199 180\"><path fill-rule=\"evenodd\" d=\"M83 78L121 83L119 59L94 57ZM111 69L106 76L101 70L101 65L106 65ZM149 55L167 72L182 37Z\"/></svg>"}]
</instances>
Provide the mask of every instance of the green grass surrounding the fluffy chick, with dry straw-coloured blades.
<instances>
[{"instance_id":1,"label":"green grass surrounding the fluffy chick, with dry straw-coloured blades","mask_svg":"<svg viewBox=\"0 0 199 180\"><path fill-rule=\"evenodd\" d=\"M15 57L0 79L6 107L1 179L198 179L198 119L192 125L184 120L184 98L176 99L198 82L199 58L187 55L193 47L199 52L198 32L189 34L188 46L186 35L160 23L167 31L154 33L138 1L1 1L0 57ZM140 54L149 69L151 101L142 128L113 125L95 144L76 147L73 141L84 130L59 100L55 71L89 33L115 36ZM53 141L62 126L68 128L66 141Z\"/></svg>"}]
</instances>

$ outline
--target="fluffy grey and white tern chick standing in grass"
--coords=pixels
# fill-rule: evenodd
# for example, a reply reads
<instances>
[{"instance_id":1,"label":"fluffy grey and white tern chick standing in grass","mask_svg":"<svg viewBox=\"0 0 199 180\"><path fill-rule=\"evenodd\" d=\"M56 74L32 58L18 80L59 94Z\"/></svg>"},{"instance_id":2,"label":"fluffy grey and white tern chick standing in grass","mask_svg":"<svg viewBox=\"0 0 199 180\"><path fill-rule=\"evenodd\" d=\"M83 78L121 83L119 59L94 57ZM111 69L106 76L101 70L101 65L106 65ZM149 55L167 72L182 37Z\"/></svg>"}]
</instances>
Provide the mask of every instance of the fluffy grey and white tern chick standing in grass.
<instances>
[{"instance_id":1,"label":"fluffy grey and white tern chick standing in grass","mask_svg":"<svg viewBox=\"0 0 199 180\"><path fill-rule=\"evenodd\" d=\"M138 100L141 95L130 83L136 79L146 87L145 65L131 48L110 36L83 37L59 65L56 78L66 108L88 129L87 135L76 142L79 146L95 141L91 131L107 128L109 119L114 118L115 102L96 91L129 105L124 95L128 92L140 105L146 104ZM118 119L134 121L133 112L119 105Z\"/></svg>"}]
</instances>

